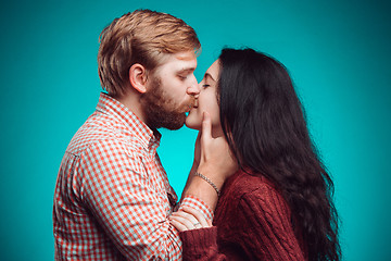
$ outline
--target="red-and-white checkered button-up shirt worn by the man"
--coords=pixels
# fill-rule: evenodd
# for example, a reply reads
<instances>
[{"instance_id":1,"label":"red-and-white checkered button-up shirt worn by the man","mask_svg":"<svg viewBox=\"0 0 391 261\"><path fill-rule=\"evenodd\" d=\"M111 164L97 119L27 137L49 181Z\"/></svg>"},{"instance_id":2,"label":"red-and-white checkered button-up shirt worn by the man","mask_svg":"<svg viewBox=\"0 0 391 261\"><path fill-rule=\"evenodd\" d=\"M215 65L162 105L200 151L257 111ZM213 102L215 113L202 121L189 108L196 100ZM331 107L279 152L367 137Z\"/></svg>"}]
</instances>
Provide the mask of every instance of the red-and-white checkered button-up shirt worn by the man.
<instances>
[{"instance_id":1,"label":"red-and-white checkered button-up shirt worn by the man","mask_svg":"<svg viewBox=\"0 0 391 261\"><path fill-rule=\"evenodd\" d=\"M61 162L53 208L56 260L180 260L181 241L167 217L177 196L153 133L122 103L101 94L97 111ZM210 219L201 200L187 204Z\"/></svg>"}]
</instances>

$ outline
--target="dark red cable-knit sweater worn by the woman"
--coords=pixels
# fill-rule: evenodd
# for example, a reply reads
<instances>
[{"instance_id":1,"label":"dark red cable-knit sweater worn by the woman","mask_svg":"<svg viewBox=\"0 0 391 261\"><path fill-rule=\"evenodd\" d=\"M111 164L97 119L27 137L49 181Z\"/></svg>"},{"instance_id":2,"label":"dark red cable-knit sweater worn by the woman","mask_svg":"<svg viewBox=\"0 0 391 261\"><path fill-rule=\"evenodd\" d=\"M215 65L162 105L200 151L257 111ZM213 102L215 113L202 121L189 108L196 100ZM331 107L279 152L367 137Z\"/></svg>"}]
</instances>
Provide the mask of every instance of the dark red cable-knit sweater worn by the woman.
<instances>
[{"instance_id":1,"label":"dark red cable-knit sweater worn by the woman","mask_svg":"<svg viewBox=\"0 0 391 261\"><path fill-rule=\"evenodd\" d=\"M305 260L290 220L270 182L239 171L222 189L214 226L180 233L184 260Z\"/></svg>"}]
</instances>

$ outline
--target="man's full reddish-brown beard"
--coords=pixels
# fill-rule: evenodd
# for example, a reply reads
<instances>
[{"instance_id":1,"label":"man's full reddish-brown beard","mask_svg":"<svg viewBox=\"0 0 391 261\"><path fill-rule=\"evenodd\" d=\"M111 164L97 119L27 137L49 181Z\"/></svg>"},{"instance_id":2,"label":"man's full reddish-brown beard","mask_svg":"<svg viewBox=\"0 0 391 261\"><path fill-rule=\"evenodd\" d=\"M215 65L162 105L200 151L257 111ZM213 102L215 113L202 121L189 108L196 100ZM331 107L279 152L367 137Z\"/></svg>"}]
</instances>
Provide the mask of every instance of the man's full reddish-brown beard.
<instances>
[{"instance_id":1,"label":"man's full reddish-brown beard","mask_svg":"<svg viewBox=\"0 0 391 261\"><path fill-rule=\"evenodd\" d=\"M189 105L177 105L168 99L162 88L162 80L159 77L151 79L151 86L141 98L141 108L146 115L146 124L150 128L179 129L186 121L186 112ZM191 102L189 102L192 104Z\"/></svg>"}]
</instances>

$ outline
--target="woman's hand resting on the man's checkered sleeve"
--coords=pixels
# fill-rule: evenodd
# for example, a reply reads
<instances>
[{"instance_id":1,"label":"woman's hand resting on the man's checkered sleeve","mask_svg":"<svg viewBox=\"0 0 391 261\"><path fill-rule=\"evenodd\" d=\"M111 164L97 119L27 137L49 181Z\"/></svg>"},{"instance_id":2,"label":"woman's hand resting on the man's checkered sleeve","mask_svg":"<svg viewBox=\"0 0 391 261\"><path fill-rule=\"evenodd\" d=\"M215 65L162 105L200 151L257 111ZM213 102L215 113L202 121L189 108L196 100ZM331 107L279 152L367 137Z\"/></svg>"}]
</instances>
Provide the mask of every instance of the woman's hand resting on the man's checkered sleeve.
<instances>
[{"instance_id":1,"label":"woman's hand resting on the man's checkered sleeve","mask_svg":"<svg viewBox=\"0 0 391 261\"><path fill-rule=\"evenodd\" d=\"M200 211L189 207L184 207L181 210L174 212L169 216L169 223L179 232L212 226L212 221L206 220Z\"/></svg>"}]
</instances>

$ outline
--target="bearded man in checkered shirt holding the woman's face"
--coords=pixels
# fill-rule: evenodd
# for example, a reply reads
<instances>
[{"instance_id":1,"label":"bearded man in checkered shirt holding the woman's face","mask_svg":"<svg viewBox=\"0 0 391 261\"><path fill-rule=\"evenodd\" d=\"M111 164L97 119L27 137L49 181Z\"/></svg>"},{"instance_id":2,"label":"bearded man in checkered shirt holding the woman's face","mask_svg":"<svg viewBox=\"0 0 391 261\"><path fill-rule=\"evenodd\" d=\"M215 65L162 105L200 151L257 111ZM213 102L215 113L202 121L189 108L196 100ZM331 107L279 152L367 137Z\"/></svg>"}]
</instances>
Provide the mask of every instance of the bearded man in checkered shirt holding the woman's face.
<instances>
[{"instance_id":1,"label":"bearded man in checkered shirt holding the woman's face","mask_svg":"<svg viewBox=\"0 0 391 261\"><path fill-rule=\"evenodd\" d=\"M199 95L193 71L200 42L172 15L138 10L103 29L98 53L97 111L73 137L54 194L55 259L179 260L169 224L178 207L209 219L235 163L205 115L197 176L180 206L156 148L156 128L180 128ZM174 156L175 157L175 156Z\"/></svg>"}]
</instances>

